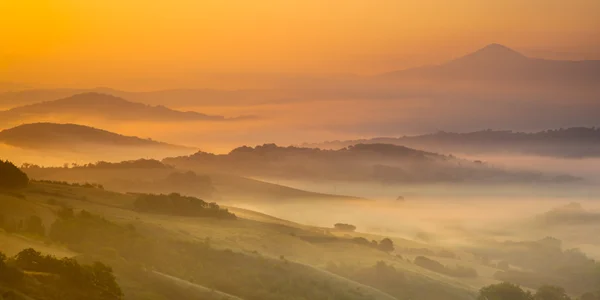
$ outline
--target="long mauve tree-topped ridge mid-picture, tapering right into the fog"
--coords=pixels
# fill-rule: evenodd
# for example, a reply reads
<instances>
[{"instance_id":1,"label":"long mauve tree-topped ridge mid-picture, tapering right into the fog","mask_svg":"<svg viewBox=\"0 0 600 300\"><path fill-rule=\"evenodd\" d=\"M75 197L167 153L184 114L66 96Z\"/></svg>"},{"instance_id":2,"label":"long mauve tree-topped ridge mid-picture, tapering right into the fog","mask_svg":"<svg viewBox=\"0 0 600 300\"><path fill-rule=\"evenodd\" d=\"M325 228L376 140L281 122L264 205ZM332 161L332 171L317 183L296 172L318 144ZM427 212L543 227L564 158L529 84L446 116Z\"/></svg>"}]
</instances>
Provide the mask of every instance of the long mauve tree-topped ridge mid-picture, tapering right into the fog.
<instances>
[{"instance_id":1,"label":"long mauve tree-topped ridge mid-picture, tapering right into the fog","mask_svg":"<svg viewBox=\"0 0 600 300\"><path fill-rule=\"evenodd\" d=\"M199 172L223 172L264 178L363 181L383 183L435 182L570 182L570 176L513 172L452 156L389 144L357 144L339 150L240 147L229 154L198 152L167 158L164 163Z\"/></svg>"}]
</instances>

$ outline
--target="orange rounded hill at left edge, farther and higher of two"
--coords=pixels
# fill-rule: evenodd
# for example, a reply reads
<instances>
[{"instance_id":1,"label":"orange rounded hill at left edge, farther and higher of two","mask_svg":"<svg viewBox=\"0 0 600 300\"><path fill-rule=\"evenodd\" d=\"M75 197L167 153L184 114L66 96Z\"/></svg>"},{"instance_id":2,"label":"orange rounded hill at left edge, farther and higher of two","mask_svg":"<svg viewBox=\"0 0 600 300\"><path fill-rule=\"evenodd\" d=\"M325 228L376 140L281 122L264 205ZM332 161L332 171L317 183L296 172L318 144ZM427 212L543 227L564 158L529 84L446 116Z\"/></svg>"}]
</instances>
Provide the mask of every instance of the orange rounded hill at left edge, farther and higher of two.
<instances>
[{"instance_id":1,"label":"orange rounded hill at left edge, farther and higher of two","mask_svg":"<svg viewBox=\"0 0 600 300\"><path fill-rule=\"evenodd\" d=\"M223 116L211 116L192 111L177 111L165 106L151 106L130 102L101 93L84 93L67 98L15 107L0 112L0 120L45 120L53 116L71 119L99 117L109 120L132 121L204 121L225 120Z\"/></svg>"}]
</instances>

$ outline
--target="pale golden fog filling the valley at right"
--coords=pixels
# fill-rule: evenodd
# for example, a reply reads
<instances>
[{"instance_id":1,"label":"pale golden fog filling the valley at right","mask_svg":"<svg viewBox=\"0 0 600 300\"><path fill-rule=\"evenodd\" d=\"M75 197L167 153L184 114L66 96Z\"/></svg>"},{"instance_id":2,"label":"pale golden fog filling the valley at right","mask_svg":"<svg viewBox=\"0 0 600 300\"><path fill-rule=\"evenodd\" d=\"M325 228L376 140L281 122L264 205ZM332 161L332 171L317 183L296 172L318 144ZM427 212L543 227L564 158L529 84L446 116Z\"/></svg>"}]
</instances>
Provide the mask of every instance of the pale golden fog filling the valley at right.
<instances>
[{"instance_id":1,"label":"pale golden fog filling the valley at right","mask_svg":"<svg viewBox=\"0 0 600 300\"><path fill-rule=\"evenodd\" d=\"M586 184L563 185L382 185L344 182L262 180L299 189L364 197L366 201L231 203L283 219L323 227L350 223L358 230L384 233L448 247L497 240L539 240L552 236L566 248L600 258L600 174L598 159L479 157L511 168L566 172ZM581 207L578 207L577 203ZM568 206L570 205L570 206ZM549 211L573 207L567 215ZM562 210L561 210L562 212Z\"/></svg>"}]
</instances>

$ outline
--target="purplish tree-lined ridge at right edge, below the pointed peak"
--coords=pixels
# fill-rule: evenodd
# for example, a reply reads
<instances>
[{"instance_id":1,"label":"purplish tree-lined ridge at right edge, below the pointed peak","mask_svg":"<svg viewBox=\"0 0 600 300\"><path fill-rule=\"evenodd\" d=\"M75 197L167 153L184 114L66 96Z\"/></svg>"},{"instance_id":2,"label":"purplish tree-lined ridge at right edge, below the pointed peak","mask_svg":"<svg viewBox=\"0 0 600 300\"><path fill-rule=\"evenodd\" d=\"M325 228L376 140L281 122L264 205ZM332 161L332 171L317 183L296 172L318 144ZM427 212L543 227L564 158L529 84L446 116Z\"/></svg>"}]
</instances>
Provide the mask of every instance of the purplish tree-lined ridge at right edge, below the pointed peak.
<instances>
[{"instance_id":1,"label":"purplish tree-lined ridge at right edge, below the pointed peak","mask_svg":"<svg viewBox=\"0 0 600 300\"><path fill-rule=\"evenodd\" d=\"M505 153L552 157L600 157L600 128L572 127L535 133L483 130L469 133L379 137L303 144L306 147L341 149L356 144L403 145L444 153Z\"/></svg>"}]
</instances>

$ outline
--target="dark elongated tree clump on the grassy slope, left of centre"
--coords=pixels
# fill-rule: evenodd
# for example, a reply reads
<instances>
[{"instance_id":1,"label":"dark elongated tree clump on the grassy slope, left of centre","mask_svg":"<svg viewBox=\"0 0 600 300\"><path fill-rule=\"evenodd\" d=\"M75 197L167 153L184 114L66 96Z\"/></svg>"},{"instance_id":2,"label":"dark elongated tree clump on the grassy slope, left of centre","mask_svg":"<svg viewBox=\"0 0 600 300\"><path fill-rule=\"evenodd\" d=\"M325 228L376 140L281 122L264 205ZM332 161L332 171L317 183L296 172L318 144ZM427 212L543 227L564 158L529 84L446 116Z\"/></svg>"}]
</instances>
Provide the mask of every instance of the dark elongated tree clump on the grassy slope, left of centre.
<instances>
[{"instance_id":1,"label":"dark elongated tree clump on the grassy slope, left of centre","mask_svg":"<svg viewBox=\"0 0 600 300\"><path fill-rule=\"evenodd\" d=\"M168 195L140 194L135 200L135 208L141 212L159 213L189 217L211 217L218 219L236 219L235 214L219 207L216 203L182 196L178 193Z\"/></svg>"}]
</instances>

